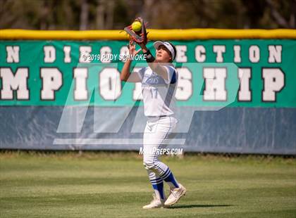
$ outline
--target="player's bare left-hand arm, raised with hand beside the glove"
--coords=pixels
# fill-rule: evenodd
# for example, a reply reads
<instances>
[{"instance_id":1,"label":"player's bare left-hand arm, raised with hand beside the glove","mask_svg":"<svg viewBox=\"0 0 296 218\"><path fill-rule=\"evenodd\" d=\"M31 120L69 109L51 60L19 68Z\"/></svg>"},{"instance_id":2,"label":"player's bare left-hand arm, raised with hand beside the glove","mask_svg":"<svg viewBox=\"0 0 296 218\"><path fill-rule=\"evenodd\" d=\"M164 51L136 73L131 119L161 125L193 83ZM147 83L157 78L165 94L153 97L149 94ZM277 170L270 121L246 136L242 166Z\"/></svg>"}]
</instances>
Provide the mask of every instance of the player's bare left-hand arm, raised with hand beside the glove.
<instances>
[{"instance_id":1,"label":"player's bare left-hand arm, raised with hand beside the glove","mask_svg":"<svg viewBox=\"0 0 296 218\"><path fill-rule=\"evenodd\" d=\"M130 41L130 44L128 46L130 56L135 56L137 53L140 52L140 50L135 50L135 44L132 44L132 41ZM123 69L121 70L121 80L126 82L141 82L141 78L137 73L130 73L130 64L132 63L131 58L128 58L126 60L125 64L123 65Z\"/></svg>"}]
</instances>

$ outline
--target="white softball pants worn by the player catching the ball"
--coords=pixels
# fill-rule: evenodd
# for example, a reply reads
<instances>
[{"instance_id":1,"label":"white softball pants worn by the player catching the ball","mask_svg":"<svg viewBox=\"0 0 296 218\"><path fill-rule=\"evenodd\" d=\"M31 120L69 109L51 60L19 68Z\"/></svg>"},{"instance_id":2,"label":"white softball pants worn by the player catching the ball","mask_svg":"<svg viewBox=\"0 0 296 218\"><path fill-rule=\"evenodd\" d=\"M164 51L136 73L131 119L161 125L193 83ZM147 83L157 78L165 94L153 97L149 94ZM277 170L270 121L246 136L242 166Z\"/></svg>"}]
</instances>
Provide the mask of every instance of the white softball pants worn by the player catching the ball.
<instances>
[{"instance_id":1,"label":"white softball pants worn by the player catching the ball","mask_svg":"<svg viewBox=\"0 0 296 218\"><path fill-rule=\"evenodd\" d=\"M178 120L175 117L153 117L147 120L143 139L143 164L149 179L155 180L163 175L168 166L159 161L159 148L165 148L175 135L173 130Z\"/></svg>"}]
</instances>

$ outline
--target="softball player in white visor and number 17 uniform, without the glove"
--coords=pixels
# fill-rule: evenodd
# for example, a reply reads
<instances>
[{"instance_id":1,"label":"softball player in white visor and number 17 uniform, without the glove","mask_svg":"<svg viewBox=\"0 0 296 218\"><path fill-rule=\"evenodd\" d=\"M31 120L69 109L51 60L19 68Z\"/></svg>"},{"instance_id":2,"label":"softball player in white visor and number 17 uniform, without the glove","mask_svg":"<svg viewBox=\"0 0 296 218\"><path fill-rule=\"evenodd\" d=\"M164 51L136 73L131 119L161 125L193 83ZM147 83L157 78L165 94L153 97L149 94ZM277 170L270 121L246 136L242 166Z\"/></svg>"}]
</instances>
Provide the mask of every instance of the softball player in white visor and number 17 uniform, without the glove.
<instances>
[{"instance_id":1,"label":"softball player in white visor and number 17 uniform, without the glove","mask_svg":"<svg viewBox=\"0 0 296 218\"><path fill-rule=\"evenodd\" d=\"M158 152L173 138L173 129L178 122L173 117L173 98L178 83L178 73L171 63L175 58L175 46L167 41L154 42L154 58L144 44L139 45L147 55L148 67L130 74L132 60L127 60L121 72L121 80L142 83L144 115L148 118L143 137L143 164L154 188L154 200L143 207L149 209L177 203L185 195L186 188L176 181L169 167L159 160ZM130 41L130 55L136 55L140 50L136 51ZM164 193L164 181L170 186L168 198Z\"/></svg>"}]
</instances>

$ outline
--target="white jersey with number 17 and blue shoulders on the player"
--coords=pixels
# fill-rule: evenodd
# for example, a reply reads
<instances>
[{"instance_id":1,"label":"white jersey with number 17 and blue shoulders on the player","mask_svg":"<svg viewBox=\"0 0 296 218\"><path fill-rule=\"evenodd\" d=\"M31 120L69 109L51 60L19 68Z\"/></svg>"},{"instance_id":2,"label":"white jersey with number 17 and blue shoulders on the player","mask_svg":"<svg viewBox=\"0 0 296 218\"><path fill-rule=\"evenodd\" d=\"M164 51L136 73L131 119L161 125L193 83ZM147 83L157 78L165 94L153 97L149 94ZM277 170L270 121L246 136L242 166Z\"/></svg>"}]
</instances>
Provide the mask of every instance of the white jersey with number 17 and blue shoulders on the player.
<instances>
[{"instance_id":1,"label":"white jersey with number 17 and blue shoulders on the player","mask_svg":"<svg viewBox=\"0 0 296 218\"><path fill-rule=\"evenodd\" d=\"M166 65L165 68L168 79L164 79L149 67L141 68L137 72L142 79L144 115L147 117L173 115L178 73L172 65Z\"/></svg>"}]
</instances>

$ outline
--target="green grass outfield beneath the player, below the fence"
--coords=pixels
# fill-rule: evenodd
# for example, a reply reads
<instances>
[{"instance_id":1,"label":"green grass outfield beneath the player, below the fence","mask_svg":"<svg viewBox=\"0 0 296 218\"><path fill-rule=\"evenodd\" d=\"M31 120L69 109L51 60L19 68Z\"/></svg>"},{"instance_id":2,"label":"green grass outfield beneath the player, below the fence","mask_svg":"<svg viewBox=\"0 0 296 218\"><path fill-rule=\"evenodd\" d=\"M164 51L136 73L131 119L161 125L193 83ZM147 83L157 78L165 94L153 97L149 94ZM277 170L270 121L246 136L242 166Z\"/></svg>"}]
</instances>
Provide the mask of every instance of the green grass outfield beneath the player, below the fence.
<instances>
[{"instance_id":1,"label":"green grass outfield beneath the player, below the fence","mask_svg":"<svg viewBox=\"0 0 296 218\"><path fill-rule=\"evenodd\" d=\"M152 187L135 153L0 153L0 217L296 217L296 160L166 157L187 195L143 210ZM166 186L168 190L168 186Z\"/></svg>"}]
</instances>

